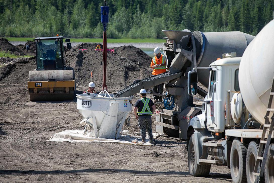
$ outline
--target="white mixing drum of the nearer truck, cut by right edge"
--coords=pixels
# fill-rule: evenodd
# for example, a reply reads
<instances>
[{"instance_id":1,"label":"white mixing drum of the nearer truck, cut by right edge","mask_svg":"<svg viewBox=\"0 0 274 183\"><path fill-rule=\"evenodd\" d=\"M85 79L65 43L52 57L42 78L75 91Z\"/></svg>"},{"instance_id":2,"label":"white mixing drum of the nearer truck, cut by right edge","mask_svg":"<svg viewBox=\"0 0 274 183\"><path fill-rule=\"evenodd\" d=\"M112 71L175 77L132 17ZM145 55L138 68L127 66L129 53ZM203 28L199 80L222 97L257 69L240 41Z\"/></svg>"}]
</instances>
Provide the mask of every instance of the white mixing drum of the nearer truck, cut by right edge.
<instances>
[{"instance_id":1,"label":"white mixing drum of the nearer truck, cut by right edge","mask_svg":"<svg viewBox=\"0 0 274 183\"><path fill-rule=\"evenodd\" d=\"M270 21L246 48L239 66L239 86L246 108L261 124L274 77L274 23ZM272 101L274 108L274 101ZM273 112L270 113L270 116Z\"/></svg>"}]
</instances>

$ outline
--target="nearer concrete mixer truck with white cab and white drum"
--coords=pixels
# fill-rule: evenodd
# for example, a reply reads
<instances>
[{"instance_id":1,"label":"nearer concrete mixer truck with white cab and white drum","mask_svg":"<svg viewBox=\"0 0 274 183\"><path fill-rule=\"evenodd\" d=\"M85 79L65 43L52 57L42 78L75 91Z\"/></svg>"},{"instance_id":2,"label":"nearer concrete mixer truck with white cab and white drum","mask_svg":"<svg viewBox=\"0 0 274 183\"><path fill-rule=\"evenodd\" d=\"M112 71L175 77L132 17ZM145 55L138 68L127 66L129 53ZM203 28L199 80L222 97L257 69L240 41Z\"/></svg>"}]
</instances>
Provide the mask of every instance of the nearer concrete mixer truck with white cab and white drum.
<instances>
[{"instance_id":1,"label":"nearer concrete mixer truck with white cab and white drum","mask_svg":"<svg viewBox=\"0 0 274 183\"><path fill-rule=\"evenodd\" d=\"M274 182L273 48L272 20L240 52L242 57L223 54L209 67L188 72L188 93L193 96L199 77L205 79L200 71L210 71L201 114L186 127L193 176L207 176L216 164L230 167L233 182Z\"/></svg>"}]
</instances>

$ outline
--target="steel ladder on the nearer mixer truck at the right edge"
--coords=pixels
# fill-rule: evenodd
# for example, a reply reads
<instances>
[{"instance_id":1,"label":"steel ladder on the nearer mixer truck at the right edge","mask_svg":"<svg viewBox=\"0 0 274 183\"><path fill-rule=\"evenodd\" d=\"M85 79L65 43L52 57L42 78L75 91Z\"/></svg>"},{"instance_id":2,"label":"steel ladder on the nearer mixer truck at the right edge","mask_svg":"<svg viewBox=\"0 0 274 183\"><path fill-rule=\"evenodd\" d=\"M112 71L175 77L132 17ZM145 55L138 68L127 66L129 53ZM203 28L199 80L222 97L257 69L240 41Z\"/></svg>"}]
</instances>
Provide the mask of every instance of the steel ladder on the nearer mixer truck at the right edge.
<instances>
[{"instance_id":1,"label":"steel ladder on the nearer mixer truck at the right edge","mask_svg":"<svg viewBox=\"0 0 274 183\"><path fill-rule=\"evenodd\" d=\"M270 145L271 135L272 135L272 131L273 131L273 123L274 123L274 108L271 108L273 96L274 96L274 78L273 78L273 81L272 81L272 87L271 87L271 91L270 91L266 116L264 117L265 118L265 123L264 123L264 127L263 127L263 130L262 130L262 137L261 137L261 140L260 140L259 150L258 150L258 154L257 154L255 167L254 167L254 173L253 174L255 176L261 176L262 177L263 174L264 174L264 166L266 165L266 156L267 156L267 151L268 151L269 145ZM271 111L273 111L273 115L271 117L271 120L269 120L269 114L270 114ZM267 138L265 138L267 131L268 131L268 136L267 136ZM261 162L261 167L259 167L260 162Z\"/></svg>"}]
</instances>

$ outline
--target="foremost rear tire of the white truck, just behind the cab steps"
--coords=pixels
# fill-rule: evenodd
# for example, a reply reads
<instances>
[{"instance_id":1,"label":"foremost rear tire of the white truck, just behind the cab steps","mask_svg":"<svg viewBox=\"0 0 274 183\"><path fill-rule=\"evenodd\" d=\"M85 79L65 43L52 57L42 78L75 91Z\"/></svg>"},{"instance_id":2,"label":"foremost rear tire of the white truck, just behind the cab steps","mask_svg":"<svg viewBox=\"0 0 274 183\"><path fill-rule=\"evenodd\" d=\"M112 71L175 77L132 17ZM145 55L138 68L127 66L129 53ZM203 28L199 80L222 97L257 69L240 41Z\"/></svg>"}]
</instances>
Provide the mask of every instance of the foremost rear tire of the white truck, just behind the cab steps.
<instances>
[{"instance_id":1,"label":"foremost rear tire of the white truck, just behind the cab steps","mask_svg":"<svg viewBox=\"0 0 274 183\"><path fill-rule=\"evenodd\" d=\"M234 139L230 151L230 172L235 183L246 180L246 152L247 149L238 139Z\"/></svg>"}]
</instances>

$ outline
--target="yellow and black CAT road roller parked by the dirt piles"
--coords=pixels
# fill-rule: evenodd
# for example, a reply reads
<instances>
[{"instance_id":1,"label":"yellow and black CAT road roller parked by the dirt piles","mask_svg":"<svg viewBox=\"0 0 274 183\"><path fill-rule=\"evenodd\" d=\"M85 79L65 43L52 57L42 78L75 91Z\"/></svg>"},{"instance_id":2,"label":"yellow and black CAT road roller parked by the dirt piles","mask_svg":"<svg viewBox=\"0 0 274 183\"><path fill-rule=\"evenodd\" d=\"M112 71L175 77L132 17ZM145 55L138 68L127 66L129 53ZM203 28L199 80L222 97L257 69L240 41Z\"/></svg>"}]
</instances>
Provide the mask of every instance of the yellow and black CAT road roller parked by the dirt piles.
<instances>
[{"instance_id":1,"label":"yellow and black CAT road roller parked by the dirt piles","mask_svg":"<svg viewBox=\"0 0 274 183\"><path fill-rule=\"evenodd\" d=\"M27 40L26 49L30 51L30 41L36 46L36 69L29 71L28 92L30 101L73 100L76 91L75 73L67 66L63 39L67 50L71 49L69 38L64 36L38 37Z\"/></svg>"}]
</instances>

